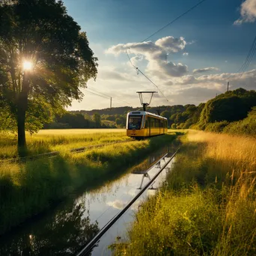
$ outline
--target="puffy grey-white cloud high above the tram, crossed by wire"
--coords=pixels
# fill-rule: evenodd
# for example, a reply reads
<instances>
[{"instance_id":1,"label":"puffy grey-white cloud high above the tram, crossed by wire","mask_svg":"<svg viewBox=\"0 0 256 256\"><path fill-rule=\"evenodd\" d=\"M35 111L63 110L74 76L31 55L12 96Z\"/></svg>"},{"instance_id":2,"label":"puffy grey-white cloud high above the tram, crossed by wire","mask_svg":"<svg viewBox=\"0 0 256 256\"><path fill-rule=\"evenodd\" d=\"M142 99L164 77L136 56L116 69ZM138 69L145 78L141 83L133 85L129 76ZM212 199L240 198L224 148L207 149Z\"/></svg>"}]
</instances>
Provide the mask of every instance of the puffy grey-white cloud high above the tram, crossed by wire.
<instances>
[{"instance_id":1,"label":"puffy grey-white cloud high above the tram, crossed by wire","mask_svg":"<svg viewBox=\"0 0 256 256\"><path fill-rule=\"evenodd\" d=\"M161 79L168 77L180 77L188 73L188 67L185 64L168 61L168 56L171 53L180 52L186 46L186 40L183 37L162 37L156 42L142 43L119 43L106 50L106 53L119 55L122 52L127 52L135 55L143 55L148 61L147 72L152 76L157 76Z\"/></svg>"}]
</instances>

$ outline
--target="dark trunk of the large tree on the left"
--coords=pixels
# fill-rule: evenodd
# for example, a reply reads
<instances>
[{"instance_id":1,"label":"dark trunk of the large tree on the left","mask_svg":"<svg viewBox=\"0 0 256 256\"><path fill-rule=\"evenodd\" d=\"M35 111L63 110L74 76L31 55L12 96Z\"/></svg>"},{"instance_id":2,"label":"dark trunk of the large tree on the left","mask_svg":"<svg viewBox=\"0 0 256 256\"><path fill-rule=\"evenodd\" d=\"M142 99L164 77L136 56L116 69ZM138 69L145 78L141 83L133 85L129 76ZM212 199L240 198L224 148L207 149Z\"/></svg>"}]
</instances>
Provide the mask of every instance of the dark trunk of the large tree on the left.
<instances>
[{"instance_id":1,"label":"dark trunk of the large tree on the left","mask_svg":"<svg viewBox=\"0 0 256 256\"><path fill-rule=\"evenodd\" d=\"M22 83L22 91L19 94L17 103L17 128L18 128L18 150L19 156L24 156L26 153L26 141L25 141L25 113L28 109L28 90L29 82L24 76Z\"/></svg>"}]
</instances>

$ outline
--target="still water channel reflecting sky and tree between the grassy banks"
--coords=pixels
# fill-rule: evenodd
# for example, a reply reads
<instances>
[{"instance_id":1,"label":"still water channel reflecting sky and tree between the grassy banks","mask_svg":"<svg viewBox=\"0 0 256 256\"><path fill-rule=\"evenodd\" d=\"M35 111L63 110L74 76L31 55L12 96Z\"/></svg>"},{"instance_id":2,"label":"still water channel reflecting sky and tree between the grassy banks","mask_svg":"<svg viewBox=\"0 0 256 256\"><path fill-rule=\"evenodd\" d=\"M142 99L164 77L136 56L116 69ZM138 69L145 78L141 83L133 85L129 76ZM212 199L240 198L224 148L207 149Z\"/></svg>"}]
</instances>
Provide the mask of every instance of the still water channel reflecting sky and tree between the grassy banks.
<instances>
[{"instance_id":1,"label":"still water channel reflecting sky and tree between the grassy banks","mask_svg":"<svg viewBox=\"0 0 256 256\"><path fill-rule=\"evenodd\" d=\"M84 192L78 197L75 193L70 195L68 201L51 210L49 214L1 239L0 255L71 255L77 252L139 192L143 171L164 153L166 150L157 152L131 168L119 180L107 183L100 189ZM161 161L161 164L163 165L164 162ZM151 168L148 172L150 178L157 171L159 168ZM164 172L159 175L156 183L153 184L154 188L159 186L164 175ZM148 181L148 177L144 177L143 186ZM124 234L126 223L132 221L134 210L138 209L144 198L154 195L155 192L156 190L153 189L144 192L143 196L102 237L99 247L94 249L94 255L102 255L103 249L105 251L106 246L115 242L115 237L119 233Z\"/></svg>"}]
</instances>

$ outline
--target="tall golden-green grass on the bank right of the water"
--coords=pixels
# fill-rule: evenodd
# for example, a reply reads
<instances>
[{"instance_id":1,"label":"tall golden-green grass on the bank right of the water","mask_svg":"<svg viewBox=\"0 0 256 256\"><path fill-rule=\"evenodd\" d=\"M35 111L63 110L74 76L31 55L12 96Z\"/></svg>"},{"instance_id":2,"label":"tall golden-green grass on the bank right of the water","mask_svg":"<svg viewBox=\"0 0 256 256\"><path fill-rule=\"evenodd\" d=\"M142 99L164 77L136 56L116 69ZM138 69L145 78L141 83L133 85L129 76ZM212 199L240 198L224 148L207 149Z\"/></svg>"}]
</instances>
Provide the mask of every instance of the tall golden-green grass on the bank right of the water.
<instances>
[{"instance_id":1,"label":"tall golden-green grass on the bank right of the water","mask_svg":"<svg viewBox=\"0 0 256 256\"><path fill-rule=\"evenodd\" d=\"M115 255L256 255L256 140L190 130Z\"/></svg>"}]
</instances>

